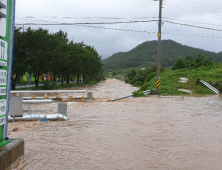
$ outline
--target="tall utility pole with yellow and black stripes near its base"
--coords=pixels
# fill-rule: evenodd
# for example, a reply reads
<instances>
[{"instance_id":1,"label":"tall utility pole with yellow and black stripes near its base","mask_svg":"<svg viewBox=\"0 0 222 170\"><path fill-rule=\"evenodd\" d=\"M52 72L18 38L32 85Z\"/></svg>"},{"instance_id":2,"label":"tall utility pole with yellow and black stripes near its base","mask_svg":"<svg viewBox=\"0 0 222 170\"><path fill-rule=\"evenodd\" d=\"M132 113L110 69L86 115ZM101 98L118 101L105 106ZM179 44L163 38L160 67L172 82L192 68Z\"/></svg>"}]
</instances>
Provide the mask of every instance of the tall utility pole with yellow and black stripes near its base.
<instances>
[{"instance_id":1,"label":"tall utility pole with yellow and black stripes near its base","mask_svg":"<svg viewBox=\"0 0 222 170\"><path fill-rule=\"evenodd\" d=\"M160 67L161 67L161 26L162 26L162 5L163 0L159 0L159 22L158 22L158 49L157 49L157 80L156 91L157 95L160 95Z\"/></svg>"}]
</instances>

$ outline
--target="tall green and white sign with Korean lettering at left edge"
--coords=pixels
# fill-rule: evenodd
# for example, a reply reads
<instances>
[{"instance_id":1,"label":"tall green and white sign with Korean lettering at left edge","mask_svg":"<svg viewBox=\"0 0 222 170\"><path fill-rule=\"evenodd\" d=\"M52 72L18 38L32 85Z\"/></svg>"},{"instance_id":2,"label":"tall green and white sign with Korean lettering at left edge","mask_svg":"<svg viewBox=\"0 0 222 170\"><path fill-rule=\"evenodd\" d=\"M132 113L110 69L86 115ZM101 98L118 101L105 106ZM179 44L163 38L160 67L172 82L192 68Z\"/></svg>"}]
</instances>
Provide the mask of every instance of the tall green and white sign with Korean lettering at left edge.
<instances>
[{"instance_id":1,"label":"tall green and white sign with Korean lettering at left edge","mask_svg":"<svg viewBox=\"0 0 222 170\"><path fill-rule=\"evenodd\" d=\"M0 0L0 147L7 140L12 56L14 43L15 0Z\"/></svg>"}]
</instances>

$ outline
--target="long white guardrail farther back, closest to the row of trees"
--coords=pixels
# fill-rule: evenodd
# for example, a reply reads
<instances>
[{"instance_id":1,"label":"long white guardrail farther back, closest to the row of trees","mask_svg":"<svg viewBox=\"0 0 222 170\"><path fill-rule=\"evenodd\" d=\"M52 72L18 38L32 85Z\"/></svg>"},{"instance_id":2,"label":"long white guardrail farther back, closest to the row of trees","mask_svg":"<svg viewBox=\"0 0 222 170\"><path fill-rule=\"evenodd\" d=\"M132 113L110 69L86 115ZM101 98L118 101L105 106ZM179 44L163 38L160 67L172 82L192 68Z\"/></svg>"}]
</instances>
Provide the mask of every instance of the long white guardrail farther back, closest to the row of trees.
<instances>
[{"instance_id":1,"label":"long white guardrail farther back, closest to the row of trees","mask_svg":"<svg viewBox=\"0 0 222 170\"><path fill-rule=\"evenodd\" d=\"M24 91L11 91L11 94L16 94L16 96L19 96L19 94L34 94L34 93L43 93L45 94L44 96L41 97L36 97L36 96L31 96L31 97L22 97L23 99L60 99L60 98L69 98L69 99L74 99L74 98L86 98L87 96L74 96L74 93L86 93L86 90L24 90ZM67 93L67 96L48 96L48 93ZM71 95L69 95L71 94Z\"/></svg>"}]
</instances>

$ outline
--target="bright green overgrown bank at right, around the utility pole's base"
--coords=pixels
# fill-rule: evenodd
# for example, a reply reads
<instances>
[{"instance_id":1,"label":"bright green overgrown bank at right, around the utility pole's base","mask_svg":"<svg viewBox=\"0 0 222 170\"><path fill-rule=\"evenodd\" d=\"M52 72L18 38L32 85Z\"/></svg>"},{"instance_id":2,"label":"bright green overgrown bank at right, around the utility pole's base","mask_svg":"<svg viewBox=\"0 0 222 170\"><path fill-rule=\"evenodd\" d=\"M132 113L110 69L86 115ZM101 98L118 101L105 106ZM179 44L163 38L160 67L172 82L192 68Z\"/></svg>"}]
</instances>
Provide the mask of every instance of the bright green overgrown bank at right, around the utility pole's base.
<instances>
[{"instance_id":1,"label":"bright green overgrown bank at right, around the utility pole's base","mask_svg":"<svg viewBox=\"0 0 222 170\"><path fill-rule=\"evenodd\" d=\"M210 67L202 66L194 69L178 69L178 70L166 70L161 73L161 95L181 95L186 94L185 92L178 91L179 88L188 89L193 94L214 94L213 91L205 87L199 82L200 79L212 83L218 90L222 87L222 64L214 64ZM188 78L187 83L180 83L181 77ZM218 83L215 83L218 82ZM152 90L156 94L156 77L150 81L145 82L140 90Z\"/></svg>"}]
</instances>

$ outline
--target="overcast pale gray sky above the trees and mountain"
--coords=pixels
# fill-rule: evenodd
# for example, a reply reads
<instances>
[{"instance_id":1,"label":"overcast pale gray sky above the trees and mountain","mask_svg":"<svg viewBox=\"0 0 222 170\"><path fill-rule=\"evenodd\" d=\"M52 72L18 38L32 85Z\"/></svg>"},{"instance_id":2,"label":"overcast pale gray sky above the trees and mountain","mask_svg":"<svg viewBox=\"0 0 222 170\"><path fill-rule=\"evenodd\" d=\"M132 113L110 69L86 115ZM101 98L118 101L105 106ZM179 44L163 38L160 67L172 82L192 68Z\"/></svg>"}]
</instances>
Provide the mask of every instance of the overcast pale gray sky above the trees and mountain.
<instances>
[{"instance_id":1,"label":"overcast pale gray sky above the trees and mountain","mask_svg":"<svg viewBox=\"0 0 222 170\"><path fill-rule=\"evenodd\" d=\"M157 20L158 15L159 1L154 0L16 0L15 22L50 24L150 21ZM164 0L163 17L166 21L163 22L162 39L171 39L208 51L222 51L221 0ZM25 25L24 28L29 26L34 29L42 27L49 29L50 32L57 32L60 29L67 31L70 41L84 41L87 45L94 46L102 58L120 51L129 51L145 41L157 40L158 29L156 21L87 26Z\"/></svg>"}]
</instances>

